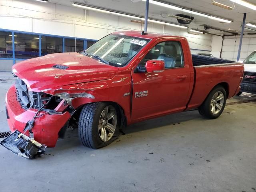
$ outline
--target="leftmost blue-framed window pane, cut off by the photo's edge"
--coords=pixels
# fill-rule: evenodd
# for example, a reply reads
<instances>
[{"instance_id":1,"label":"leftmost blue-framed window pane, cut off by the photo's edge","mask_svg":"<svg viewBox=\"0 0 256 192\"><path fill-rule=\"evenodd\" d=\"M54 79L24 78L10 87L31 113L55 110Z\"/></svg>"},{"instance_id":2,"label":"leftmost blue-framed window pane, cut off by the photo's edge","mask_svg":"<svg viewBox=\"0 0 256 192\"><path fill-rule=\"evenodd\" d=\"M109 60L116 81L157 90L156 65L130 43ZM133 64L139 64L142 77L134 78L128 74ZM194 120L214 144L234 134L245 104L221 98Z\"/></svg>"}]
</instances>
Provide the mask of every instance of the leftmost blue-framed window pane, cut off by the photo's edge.
<instances>
[{"instance_id":1,"label":"leftmost blue-framed window pane, cut off by the photo's edge","mask_svg":"<svg viewBox=\"0 0 256 192\"><path fill-rule=\"evenodd\" d=\"M12 32L0 31L0 58L12 58Z\"/></svg>"}]
</instances>

